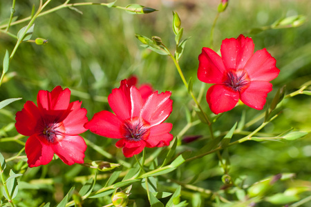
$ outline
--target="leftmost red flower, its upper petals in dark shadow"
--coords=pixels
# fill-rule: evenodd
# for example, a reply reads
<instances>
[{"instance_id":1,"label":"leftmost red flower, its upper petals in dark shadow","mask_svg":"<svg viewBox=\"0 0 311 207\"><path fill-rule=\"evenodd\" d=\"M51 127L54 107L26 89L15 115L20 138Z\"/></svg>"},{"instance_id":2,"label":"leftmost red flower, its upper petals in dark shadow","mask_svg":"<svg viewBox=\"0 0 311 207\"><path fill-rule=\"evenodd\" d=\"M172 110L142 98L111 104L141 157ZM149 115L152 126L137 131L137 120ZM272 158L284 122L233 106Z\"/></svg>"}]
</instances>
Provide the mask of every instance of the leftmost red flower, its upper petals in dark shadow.
<instances>
[{"instance_id":1,"label":"leftmost red flower, its upper petals in dark shadow","mask_svg":"<svg viewBox=\"0 0 311 207\"><path fill-rule=\"evenodd\" d=\"M88 118L81 103L70 103L70 90L57 86L52 92L39 90L38 106L26 101L16 113L17 132L30 136L25 146L30 168L48 164L54 153L68 165L84 162L86 144L78 134L86 131Z\"/></svg>"}]
</instances>

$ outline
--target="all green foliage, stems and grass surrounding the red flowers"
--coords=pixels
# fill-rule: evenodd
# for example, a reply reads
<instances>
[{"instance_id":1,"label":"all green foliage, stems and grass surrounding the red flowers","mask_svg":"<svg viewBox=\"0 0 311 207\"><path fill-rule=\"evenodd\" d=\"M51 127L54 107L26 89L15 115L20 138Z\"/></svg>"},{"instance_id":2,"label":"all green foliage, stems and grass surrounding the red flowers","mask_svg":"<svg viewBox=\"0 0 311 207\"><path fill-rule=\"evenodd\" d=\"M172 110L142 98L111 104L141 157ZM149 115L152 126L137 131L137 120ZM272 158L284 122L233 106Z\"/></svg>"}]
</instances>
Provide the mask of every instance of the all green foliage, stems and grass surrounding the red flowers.
<instances>
[{"instance_id":1,"label":"all green foliage, stems and grass surrounding the red flowers","mask_svg":"<svg viewBox=\"0 0 311 207\"><path fill-rule=\"evenodd\" d=\"M76 3L50 1L36 17L39 1L16 1L15 8L12 1L0 2L2 206L105 206L117 188L129 185L129 207L310 206L309 1L229 1L218 8L211 1ZM264 110L238 104L213 115L208 108L210 85L200 83L196 73L202 47L211 47L218 12L215 51L223 39L245 34L255 50L267 48L276 59L281 73ZM36 18L35 24L28 17ZM115 139L88 131L83 165L66 166L55 157L46 166L28 168L28 137L15 130L15 114L36 100L38 90L70 88L71 101L82 101L91 119L110 110L108 95L130 75L159 92L171 90L167 122L175 138L169 147L146 148L140 168L115 148ZM196 135L202 138L182 142Z\"/></svg>"}]
</instances>

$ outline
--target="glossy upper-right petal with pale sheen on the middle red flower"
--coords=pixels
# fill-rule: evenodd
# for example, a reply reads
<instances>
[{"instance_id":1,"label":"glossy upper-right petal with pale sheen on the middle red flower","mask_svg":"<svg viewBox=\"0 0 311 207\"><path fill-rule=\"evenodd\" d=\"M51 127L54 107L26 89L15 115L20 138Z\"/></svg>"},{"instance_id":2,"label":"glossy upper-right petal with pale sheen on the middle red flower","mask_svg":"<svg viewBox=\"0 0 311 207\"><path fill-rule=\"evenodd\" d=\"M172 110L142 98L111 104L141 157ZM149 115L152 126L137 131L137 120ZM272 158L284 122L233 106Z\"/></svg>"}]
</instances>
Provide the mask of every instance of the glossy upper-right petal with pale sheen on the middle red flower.
<instances>
[{"instance_id":1,"label":"glossy upper-right petal with pale sheen on the middle red flower","mask_svg":"<svg viewBox=\"0 0 311 207\"><path fill-rule=\"evenodd\" d=\"M162 123L171 114L173 101L169 97L171 97L170 91L160 94L158 91L153 92L144 102L140 116L151 126Z\"/></svg>"}]
</instances>

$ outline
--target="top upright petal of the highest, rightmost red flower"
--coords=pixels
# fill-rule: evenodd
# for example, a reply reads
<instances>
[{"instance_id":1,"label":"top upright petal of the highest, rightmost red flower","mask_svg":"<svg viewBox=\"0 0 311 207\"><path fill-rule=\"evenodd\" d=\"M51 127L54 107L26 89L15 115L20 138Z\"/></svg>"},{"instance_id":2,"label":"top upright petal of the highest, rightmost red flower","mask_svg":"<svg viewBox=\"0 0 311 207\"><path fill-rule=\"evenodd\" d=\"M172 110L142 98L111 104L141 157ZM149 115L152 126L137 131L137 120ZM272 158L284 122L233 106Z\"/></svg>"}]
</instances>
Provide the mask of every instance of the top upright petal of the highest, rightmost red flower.
<instances>
[{"instance_id":1,"label":"top upright petal of the highest, rightmost red flower","mask_svg":"<svg viewBox=\"0 0 311 207\"><path fill-rule=\"evenodd\" d=\"M227 69L242 69L254 53L254 42L240 34L237 39L224 39L220 52Z\"/></svg>"}]
</instances>

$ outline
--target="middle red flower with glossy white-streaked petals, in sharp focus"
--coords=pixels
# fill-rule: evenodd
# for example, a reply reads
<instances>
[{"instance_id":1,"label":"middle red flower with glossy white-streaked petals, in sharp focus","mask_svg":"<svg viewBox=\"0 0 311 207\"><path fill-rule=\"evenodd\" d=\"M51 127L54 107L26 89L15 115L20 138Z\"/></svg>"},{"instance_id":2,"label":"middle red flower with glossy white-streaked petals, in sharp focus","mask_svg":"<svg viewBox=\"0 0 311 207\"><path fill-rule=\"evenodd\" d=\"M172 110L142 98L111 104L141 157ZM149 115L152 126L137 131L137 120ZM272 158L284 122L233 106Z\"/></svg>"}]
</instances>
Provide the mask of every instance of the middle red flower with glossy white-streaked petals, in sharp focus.
<instances>
[{"instance_id":1,"label":"middle red flower with glossy white-streaked petals, in sharp focus","mask_svg":"<svg viewBox=\"0 0 311 207\"><path fill-rule=\"evenodd\" d=\"M173 135L170 123L162 123L172 110L171 92L153 92L146 100L126 79L108 96L113 113L102 110L84 127L97 135L120 139L115 146L123 148L125 157L142 152L144 147L169 146Z\"/></svg>"}]
</instances>

